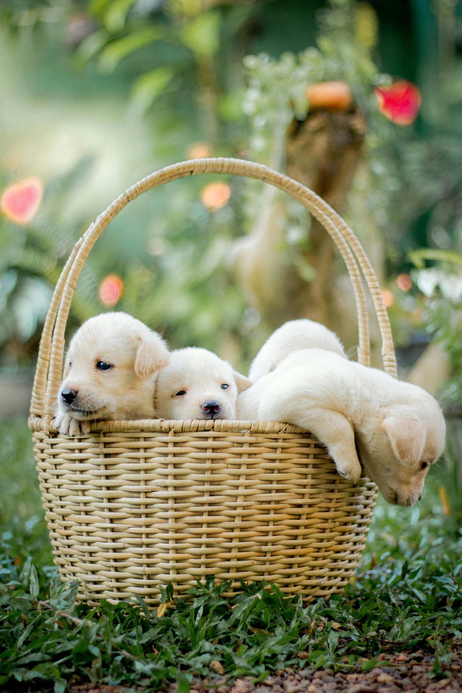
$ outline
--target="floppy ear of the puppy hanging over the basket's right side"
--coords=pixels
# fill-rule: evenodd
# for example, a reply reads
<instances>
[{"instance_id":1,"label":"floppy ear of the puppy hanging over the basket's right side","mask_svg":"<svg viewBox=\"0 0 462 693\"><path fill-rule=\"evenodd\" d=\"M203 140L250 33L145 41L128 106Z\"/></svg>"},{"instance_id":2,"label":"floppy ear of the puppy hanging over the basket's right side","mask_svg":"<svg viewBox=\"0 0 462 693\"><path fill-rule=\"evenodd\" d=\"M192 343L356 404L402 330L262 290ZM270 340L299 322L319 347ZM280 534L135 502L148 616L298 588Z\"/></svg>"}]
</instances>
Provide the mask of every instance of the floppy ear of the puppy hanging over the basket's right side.
<instances>
[{"instance_id":1,"label":"floppy ear of the puppy hanging over the basket's right side","mask_svg":"<svg viewBox=\"0 0 462 693\"><path fill-rule=\"evenodd\" d=\"M418 462L425 448L426 431L423 422L409 408L387 416L382 421L382 429L387 433L391 448L403 464Z\"/></svg>"}]
</instances>

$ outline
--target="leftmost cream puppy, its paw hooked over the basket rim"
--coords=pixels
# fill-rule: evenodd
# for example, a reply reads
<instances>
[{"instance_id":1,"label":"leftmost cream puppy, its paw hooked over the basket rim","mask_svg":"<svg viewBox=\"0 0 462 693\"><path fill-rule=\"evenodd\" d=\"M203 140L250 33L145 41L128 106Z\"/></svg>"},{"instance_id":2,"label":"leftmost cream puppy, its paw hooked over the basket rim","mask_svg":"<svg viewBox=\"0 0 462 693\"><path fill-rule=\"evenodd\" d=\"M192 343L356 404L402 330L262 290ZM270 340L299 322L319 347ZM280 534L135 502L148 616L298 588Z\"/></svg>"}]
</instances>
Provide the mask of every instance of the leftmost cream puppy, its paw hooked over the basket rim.
<instances>
[{"instance_id":1,"label":"leftmost cream puppy, its paw hooked over the basket rim","mask_svg":"<svg viewBox=\"0 0 462 693\"><path fill-rule=\"evenodd\" d=\"M80 435L94 419L154 419L156 373L168 362L163 339L131 315L91 317L69 344L57 394L57 430Z\"/></svg>"}]
</instances>

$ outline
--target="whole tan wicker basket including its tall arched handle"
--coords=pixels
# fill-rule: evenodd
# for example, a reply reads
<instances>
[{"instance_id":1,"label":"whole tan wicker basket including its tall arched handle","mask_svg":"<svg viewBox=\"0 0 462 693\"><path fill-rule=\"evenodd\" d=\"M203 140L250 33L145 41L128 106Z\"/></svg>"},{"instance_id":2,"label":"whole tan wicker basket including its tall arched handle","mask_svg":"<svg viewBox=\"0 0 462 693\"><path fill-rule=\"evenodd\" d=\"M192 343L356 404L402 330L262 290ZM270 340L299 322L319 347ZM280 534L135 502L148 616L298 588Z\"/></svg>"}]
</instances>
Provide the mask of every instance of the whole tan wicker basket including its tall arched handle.
<instances>
[{"instance_id":1,"label":"whole tan wicker basket including its tall arched handle","mask_svg":"<svg viewBox=\"0 0 462 693\"><path fill-rule=\"evenodd\" d=\"M265 166L198 159L164 168L130 188L78 240L57 282L44 324L30 405L40 489L62 579L78 578L79 599L141 595L159 585L179 594L215 575L265 579L310 599L341 590L357 566L377 489L338 475L308 432L274 421L107 421L69 438L53 427L64 329L75 284L100 233L127 202L197 173L261 179L299 200L344 257L357 302L358 359L369 365L361 268L382 332L384 368L396 375L387 310L361 245L312 191Z\"/></svg>"}]
</instances>

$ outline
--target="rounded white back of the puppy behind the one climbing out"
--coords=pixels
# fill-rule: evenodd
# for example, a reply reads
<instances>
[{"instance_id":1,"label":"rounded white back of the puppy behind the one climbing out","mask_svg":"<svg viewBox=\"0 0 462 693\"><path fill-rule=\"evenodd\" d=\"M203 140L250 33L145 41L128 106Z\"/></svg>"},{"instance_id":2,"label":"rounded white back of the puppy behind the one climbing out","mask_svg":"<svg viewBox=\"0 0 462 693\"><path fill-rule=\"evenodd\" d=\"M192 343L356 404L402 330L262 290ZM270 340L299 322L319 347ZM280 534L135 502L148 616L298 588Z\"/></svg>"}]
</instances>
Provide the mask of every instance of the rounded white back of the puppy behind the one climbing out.
<instances>
[{"instance_id":1,"label":"rounded white back of the puppy behind the one climbing out","mask_svg":"<svg viewBox=\"0 0 462 693\"><path fill-rule=\"evenodd\" d=\"M286 356L299 349L325 349L346 358L339 337L320 322L290 320L272 333L258 351L251 362L249 380L255 383L258 378L274 371Z\"/></svg>"}]
</instances>

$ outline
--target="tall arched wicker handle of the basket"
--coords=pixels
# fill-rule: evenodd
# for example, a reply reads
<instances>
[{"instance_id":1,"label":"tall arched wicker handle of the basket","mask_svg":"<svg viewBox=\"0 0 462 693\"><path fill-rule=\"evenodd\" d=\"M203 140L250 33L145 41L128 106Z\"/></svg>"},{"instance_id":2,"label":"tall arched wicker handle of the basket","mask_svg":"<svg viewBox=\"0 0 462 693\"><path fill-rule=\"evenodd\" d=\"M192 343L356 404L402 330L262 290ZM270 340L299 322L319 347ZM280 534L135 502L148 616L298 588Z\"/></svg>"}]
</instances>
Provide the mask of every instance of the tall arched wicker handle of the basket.
<instances>
[{"instance_id":1,"label":"tall arched wicker handle of the basket","mask_svg":"<svg viewBox=\"0 0 462 693\"><path fill-rule=\"evenodd\" d=\"M107 227L116 214L118 214L128 202L139 197L141 193L172 180L199 173L225 173L263 180L285 191L289 195L292 195L293 198L299 200L299 202L319 220L339 248L350 274L350 279L353 282L359 331L358 360L363 365L368 365L370 352L366 302L356 261L359 263L359 267L361 267L362 273L364 274L364 278L371 292L375 312L377 313L380 333L382 335L384 369L387 373L396 377L396 358L393 349L393 338L391 335L387 308L385 308L382 299L380 286L361 244L344 220L342 220L341 217L319 197L319 195L316 195L316 193L309 188L305 188L305 186L286 175L267 168L267 166L242 159L194 159L193 161L184 161L181 164L174 164L173 166L163 168L129 188L98 216L96 221L90 225L89 229L85 231L85 234L73 248L71 256L62 270L50 307L48 308L39 347L39 359L37 361L37 370L35 373L33 396L30 407L31 414L35 416L44 416L48 423L51 422L53 417L55 398L62 378L64 331L69 309L71 307L71 300L82 267L87 260L91 248L96 243L98 236L100 236L103 229ZM53 337L51 338L52 331ZM46 377L47 372L48 378Z\"/></svg>"}]
</instances>

